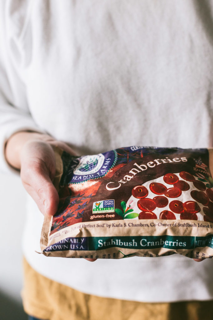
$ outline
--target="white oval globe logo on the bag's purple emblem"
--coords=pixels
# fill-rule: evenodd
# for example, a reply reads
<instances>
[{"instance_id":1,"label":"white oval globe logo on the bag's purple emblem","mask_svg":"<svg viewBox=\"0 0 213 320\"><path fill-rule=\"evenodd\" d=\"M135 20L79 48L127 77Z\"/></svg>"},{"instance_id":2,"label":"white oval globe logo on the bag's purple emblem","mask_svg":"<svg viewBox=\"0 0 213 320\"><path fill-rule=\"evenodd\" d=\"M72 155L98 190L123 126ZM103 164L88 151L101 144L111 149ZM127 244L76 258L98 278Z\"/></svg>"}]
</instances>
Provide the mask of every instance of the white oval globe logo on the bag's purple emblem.
<instances>
[{"instance_id":1,"label":"white oval globe logo on the bag's purple emblem","mask_svg":"<svg viewBox=\"0 0 213 320\"><path fill-rule=\"evenodd\" d=\"M74 169L75 175L94 174L98 172L104 163L105 157L102 153L93 156L83 156L79 159L79 164Z\"/></svg>"}]
</instances>

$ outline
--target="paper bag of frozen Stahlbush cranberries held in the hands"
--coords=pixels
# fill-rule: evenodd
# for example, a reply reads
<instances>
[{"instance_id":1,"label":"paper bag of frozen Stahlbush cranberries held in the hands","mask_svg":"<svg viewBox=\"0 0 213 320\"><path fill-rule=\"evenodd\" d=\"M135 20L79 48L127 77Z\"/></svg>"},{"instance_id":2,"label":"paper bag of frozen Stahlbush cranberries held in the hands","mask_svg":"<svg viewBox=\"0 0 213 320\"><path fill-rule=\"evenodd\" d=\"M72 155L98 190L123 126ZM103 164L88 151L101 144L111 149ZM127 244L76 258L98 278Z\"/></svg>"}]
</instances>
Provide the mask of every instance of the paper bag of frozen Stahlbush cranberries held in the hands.
<instances>
[{"instance_id":1,"label":"paper bag of frozen Stahlbush cranberries held in the hands","mask_svg":"<svg viewBox=\"0 0 213 320\"><path fill-rule=\"evenodd\" d=\"M56 150L60 203L45 217L46 256L213 257L208 149L133 146L70 156Z\"/></svg>"}]
</instances>

